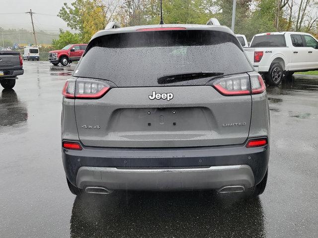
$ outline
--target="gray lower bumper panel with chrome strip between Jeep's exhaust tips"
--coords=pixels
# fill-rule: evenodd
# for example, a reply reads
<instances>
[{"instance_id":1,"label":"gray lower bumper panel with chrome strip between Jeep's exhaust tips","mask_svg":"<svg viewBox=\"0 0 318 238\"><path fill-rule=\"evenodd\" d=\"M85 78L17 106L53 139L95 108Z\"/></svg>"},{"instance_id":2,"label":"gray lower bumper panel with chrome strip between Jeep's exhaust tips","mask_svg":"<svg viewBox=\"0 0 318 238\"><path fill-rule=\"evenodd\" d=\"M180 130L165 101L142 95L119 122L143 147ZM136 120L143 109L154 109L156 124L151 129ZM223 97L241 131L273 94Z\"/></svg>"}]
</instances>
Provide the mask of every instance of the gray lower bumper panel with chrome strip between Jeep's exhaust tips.
<instances>
[{"instance_id":1,"label":"gray lower bumper panel with chrome strip between Jeep's exhaust tips","mask_svg":"<svg viewBox=\"0 0 318 238\"><path fill-rule=\"evenodd\" d=\"M102 186L108 190L193 190L218 189L229 185L254 185L248 165L182 169L117 169L80 167L76 185Z\"/></svg>"}]
</instances>

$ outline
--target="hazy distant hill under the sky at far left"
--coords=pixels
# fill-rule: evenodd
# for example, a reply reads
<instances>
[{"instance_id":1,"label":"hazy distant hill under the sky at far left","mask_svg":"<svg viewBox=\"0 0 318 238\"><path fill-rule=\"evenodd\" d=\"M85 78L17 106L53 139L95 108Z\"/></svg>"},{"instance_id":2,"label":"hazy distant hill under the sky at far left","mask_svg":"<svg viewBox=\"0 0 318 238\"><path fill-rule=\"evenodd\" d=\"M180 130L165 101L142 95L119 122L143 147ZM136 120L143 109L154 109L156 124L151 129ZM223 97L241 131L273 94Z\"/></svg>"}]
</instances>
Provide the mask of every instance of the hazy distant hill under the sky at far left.
<instances>
[{"instance_id":1,"label":"hazy distant hill under the sky at far left","mask_svg":"<svg viewBox=\"0 0 318 238\"><path fill-rule=\"evenodd\" d=\"M56 31L58 32L58 30ZM17 44L34 44L33 32L25 29L3 29L0 26L0 46L2 46L2 34L4 45L12 46ZM50 31L35 31L36 41L38 45L50 45L53 39L59 38L59 33L52 33Z\"/></svg>"}]
</instances>

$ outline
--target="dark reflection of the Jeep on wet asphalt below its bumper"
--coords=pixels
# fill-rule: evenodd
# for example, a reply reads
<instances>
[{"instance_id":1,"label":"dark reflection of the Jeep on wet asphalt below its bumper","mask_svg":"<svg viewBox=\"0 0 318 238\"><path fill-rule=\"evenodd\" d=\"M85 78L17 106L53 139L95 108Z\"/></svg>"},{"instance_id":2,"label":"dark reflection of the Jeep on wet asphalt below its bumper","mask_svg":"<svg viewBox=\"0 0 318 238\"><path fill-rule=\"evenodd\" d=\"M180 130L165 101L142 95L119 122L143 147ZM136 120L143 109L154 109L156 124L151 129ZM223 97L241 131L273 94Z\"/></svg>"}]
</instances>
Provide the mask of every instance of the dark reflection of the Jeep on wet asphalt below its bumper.
<instances>
[{"instance_id":1,"label":"dark reflection of the Jeep on wet asphalt below its bumper","mask_svg":"<svg viewBox=\"0 0 318 238\"><path fill-rule=\"evenodd\" d=\"M264 215L259 198L233 201L211 192L84 195L74 201L71 237L260 238Z\"/></svg>"}]
</instances>

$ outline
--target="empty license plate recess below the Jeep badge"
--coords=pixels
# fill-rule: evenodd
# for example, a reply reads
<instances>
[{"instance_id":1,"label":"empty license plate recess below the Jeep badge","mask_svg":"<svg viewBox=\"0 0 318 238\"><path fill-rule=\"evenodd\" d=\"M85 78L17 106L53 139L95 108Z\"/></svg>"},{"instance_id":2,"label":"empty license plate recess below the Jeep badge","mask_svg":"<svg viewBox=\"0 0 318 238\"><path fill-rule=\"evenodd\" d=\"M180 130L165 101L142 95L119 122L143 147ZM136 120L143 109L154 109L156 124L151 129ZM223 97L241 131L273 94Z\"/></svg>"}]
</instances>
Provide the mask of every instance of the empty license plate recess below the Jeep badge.
<instances>
[{"instance_id":1,"label":"empty license plate recess below the Jeep badge","mask_svg":"<svg viewBox=\"0 0 318 238\"><path fill-rule=\"evenodd\" d=\"M213 115L204 107L137 108L116 110L108 131L197 131L212 127Z\"/></svg>"}]
</instances>

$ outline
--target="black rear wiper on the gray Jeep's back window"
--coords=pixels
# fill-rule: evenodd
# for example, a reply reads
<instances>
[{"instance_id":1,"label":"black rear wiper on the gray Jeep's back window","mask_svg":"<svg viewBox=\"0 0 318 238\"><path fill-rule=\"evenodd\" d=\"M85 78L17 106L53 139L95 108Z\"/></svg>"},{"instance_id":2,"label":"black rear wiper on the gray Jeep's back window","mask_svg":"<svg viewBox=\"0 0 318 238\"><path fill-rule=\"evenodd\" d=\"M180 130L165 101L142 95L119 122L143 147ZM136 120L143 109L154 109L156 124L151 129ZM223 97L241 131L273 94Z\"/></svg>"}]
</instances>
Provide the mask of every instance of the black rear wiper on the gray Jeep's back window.
<instances>
[{"instance_id":1,"label":"black rear wiper on the gray Jeep's back window","mask_svg":"<svg viewBox=\"0 0 318 238\"><path fill-rule=\"evenodd\" d=\"M158 84L176 83L198 78L222 76L223 74L224 73L221 72L188 72L179 74L167 74L158 78Z\"/></svg>"}]
</instances>

